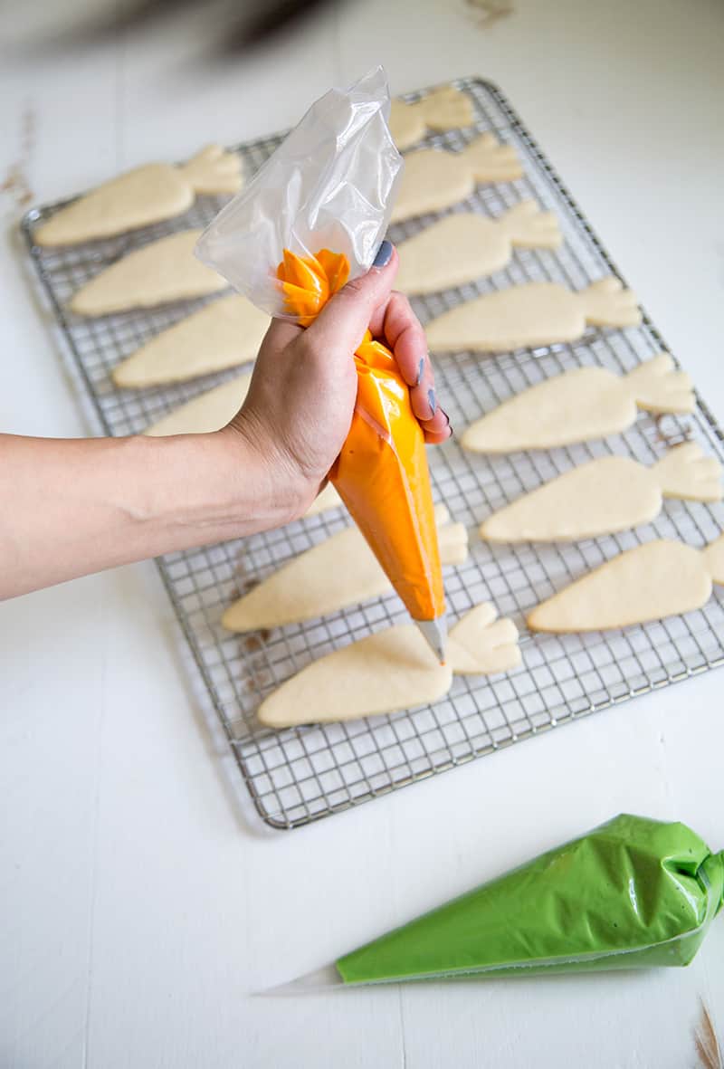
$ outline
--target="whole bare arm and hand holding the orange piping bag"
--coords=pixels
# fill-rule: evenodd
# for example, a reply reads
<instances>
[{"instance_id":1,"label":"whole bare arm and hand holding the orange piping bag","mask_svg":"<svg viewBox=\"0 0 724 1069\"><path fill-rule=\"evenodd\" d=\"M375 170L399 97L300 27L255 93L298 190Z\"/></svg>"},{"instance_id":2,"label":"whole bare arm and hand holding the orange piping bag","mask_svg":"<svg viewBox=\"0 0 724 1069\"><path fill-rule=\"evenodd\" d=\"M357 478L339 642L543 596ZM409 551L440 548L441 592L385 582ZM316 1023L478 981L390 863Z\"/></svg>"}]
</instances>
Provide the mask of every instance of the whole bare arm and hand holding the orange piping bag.
<instances>
[{"instance_id":1,"label":"whole bare arm and hand holding the orange piping bag","mask_svg":"<svg viewBox=\"0 0 724 1069\"><path fill-rule=\"evenodd\" d=\"M0 598L301 516L350 429L352 354L368 324L395 353L426 439L448 438L422 328L391 292L396 270L397 253L383 243L378 266L340 290L307 330L273 323L246 403L221 431L0 435Z\"/></svg>"}]
</instances>

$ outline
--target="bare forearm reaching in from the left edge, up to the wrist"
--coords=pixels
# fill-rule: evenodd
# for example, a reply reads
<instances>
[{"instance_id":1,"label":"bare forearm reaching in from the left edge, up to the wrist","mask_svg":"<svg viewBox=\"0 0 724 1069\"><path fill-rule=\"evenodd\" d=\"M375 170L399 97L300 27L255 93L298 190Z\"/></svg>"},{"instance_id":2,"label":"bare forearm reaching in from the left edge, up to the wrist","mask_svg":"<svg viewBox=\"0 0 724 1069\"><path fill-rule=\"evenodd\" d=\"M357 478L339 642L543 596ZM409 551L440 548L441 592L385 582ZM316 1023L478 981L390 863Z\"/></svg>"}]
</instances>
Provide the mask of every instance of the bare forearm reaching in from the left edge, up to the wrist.
<instances>
[{"instance_id":1,"label":"bare forearm reaching in from the left edge, up to the wrist","mask_svg":"<svg viewBox=\"0 0 724 1069\"><path fill-rule=\"evenodd\" d=\"M0 598L282 523L243 436L0 435Z\"/></svg>"}]
</instances>

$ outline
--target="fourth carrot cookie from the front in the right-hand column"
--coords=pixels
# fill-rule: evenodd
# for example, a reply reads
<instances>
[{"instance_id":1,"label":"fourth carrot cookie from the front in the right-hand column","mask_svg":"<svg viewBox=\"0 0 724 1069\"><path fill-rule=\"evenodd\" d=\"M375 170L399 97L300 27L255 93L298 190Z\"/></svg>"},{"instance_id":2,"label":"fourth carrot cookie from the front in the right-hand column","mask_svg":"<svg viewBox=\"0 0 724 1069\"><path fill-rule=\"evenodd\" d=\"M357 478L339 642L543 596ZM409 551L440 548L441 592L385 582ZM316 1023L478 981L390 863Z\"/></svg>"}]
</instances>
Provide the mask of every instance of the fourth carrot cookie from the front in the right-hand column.
<instances>
[{"instance_id":1,"label":"fourth carrot cookie from the front in the right-hand column","mask_svg":"<svg viewBox=\"0 0 724 1069\"><path fill-rule=\"evenodd\" d=\"M633 327L641 323L636 297L617 278L602 278L575 293L558 282L526 282L487 293L444 312L425 328L437 353L513 348L576 341L587 325Z\"/></svg>"}]
</instances>

